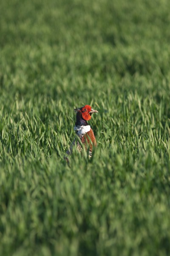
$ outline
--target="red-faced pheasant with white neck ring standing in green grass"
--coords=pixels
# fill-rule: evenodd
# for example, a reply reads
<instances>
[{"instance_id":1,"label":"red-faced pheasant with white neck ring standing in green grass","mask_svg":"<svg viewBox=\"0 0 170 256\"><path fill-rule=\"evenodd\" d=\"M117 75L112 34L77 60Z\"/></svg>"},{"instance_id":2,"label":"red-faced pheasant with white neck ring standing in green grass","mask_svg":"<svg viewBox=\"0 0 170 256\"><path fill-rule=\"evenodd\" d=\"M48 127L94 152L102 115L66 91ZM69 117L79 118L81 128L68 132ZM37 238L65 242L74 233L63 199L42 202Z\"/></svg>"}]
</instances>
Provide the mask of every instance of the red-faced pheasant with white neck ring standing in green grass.
<instances>
[{"instance_id":1,"label":"red-faced pheasant with white neck ring standing in green grass","mask_svg":"<svg viewBox=\"0 0 170 256\"><path fill-rule=\"evenodd\" d=\"M74 126L74 131L76 131L77 136L81 140L82 144L85 145L86 150L90 146L89 149L89 157L92 155L92 149L93 146L96 147L96 139L94 137L94 132L91 129L91 126L88 125L88 122L91 119L92 113L98 113L98 111L91 108L89 105L85 105L82 108L76 108L74 109L77 112L76 116L76 123ZM76 138L74 139L71 147L66 151L66 154L72 154L73 153L73 147L75 145ZM81 151L82 146L79 143L79 140L77 140L77 150ZM68 161L68 157L65 157Z\"/></svg>"}]
</instances>

